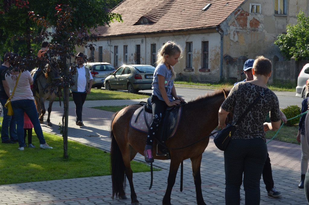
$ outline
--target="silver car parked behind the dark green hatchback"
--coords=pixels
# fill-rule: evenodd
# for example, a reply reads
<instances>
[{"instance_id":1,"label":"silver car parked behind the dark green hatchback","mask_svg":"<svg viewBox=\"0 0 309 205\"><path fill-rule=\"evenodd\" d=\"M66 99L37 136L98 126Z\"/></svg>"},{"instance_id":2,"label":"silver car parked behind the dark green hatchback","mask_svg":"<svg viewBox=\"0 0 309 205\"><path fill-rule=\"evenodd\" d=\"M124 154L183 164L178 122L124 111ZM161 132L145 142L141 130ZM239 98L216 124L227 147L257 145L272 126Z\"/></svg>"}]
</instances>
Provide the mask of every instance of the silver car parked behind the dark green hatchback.
<instances>
[{"instance_id":1,"label":"silver car parked behind the dark green hatchback","mask_svg":"<svg viewBox=\"0 0 309 205\"><path fill-rule=\"evenodd\" d=\"M98 89L104 85L105 78L116 70L114 66L107 62L85 63L84 66L89 68L92 75L92 87L96 87Z\"/></svg>"}]
</instances>

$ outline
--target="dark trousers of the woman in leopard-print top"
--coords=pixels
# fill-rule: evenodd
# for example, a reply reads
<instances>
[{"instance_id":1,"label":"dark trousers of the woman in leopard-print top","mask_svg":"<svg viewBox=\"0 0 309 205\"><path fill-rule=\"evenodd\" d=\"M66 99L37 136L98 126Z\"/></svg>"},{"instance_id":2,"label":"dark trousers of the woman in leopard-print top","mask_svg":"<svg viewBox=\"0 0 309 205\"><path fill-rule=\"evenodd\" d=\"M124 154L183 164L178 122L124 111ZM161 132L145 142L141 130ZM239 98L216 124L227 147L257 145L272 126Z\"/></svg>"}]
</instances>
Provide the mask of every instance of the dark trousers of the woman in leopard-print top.
<instances>
[{"instance_id":1,"label":"dark trousers of the woman in leopard-print top","mask_svg":"<svg viewBox=\"0 0 309 205\"><path fill-rule=\"evenodd\" d=\"M232 139L224 151L225 204L240 204L243 179L245 204L260 204L260 179L267 157L264 139Z\"/></svg>"}]
</instances>

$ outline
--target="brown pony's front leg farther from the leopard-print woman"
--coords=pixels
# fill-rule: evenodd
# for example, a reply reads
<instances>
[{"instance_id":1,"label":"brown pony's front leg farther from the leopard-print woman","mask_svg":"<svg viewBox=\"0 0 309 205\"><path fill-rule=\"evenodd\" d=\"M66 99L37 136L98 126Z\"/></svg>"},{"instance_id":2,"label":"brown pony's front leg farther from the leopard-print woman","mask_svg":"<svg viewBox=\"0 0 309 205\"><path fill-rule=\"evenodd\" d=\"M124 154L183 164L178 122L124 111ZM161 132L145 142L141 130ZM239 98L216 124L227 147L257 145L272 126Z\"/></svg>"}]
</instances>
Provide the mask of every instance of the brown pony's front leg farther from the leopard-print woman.
<instances>
[{"instance_id":1,"label":"brown pony's front leg farther from the leopard-print woman","mask_svg":"<svg viewBox=\"0 0 309 205\"><path fill-rule=\"evenodd\" d=\"M173 186L175 184L176 175L177 175L179 165L180 165L179 160L171 159L170 171L168 173L168 178L167 178L167 188L166 188L166 191L165 191L165 195L163 197L162 205L170 205L171 204L171 192L172 192Z\"/></svg>"}]
</instances>

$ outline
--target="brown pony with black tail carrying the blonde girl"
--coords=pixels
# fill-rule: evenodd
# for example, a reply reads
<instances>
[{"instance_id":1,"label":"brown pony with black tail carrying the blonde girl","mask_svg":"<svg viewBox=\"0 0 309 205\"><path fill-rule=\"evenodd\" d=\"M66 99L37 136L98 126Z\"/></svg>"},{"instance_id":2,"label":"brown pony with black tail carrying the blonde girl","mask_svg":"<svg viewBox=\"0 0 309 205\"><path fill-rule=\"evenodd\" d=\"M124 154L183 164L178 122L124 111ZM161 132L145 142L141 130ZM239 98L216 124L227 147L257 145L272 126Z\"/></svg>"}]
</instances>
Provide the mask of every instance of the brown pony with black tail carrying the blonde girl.
<instances>
[{"instance_id":1,"label":"brown pony with black tail carrying the blonde girl","mask_svg":"<svg viewBox=\"0 0 309 205\"><path fill-rule=\"evenodd\" d=\"M167 189L162 204L171 204L171 191L180 163L190 158L196 189L197 204L204 205L201 190L201 159L208 145L209 135L218 126L218 111L229 91L217 90L214 94L198 97L184 105L180 125L172 139L166 141L170 147L170 171L167 179ZM134 111L140 105L127 106L115 113L111 125L111 172L112 198L116 195L120 199L125 196L125 176L130 184L131 204L138 205L138 199L133 186L133 172L130 161L137 153L143 155L146 144L146 134L130 127L129 121ZM203 139L204 138L204 139ZM199 143L195 143L201 140ZM186 147L194 143L192 146ZM156 141L154 142L156 145ZM154 159L167 159L156 156L156 146L153 146ZM182 149L172 149L181 148Z\"/></svg>"}]
</instances>

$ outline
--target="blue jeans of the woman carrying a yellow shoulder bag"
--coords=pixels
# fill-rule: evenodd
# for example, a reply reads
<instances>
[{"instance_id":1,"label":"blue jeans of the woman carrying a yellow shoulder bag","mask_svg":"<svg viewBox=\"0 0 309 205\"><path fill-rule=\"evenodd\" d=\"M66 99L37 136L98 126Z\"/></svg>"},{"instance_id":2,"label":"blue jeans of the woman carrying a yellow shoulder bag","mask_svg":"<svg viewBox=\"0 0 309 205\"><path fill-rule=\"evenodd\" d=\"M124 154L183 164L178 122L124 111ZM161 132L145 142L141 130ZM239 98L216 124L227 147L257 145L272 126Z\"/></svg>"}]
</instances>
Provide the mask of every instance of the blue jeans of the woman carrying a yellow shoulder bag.
<instances>
[{"instance_id":1,"label":"blue jeans of the woman carrying a yellow shoulder bag","mask_svg":"<svg viewBox=\"0 0 309 205\"><path fill-rule=\"evenodd\" d=\"M17 137L19 147L25 147L24 130L23 130L23 115L26 113L33 124L36 136L39 138L40 144L45 144L42 127L40 125L39 116L36 111L36 105L33 100L15 100L11 102L17 124Z\"/></svg>"}]
</instances>

